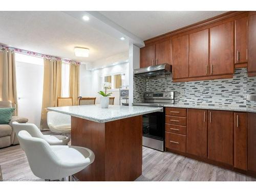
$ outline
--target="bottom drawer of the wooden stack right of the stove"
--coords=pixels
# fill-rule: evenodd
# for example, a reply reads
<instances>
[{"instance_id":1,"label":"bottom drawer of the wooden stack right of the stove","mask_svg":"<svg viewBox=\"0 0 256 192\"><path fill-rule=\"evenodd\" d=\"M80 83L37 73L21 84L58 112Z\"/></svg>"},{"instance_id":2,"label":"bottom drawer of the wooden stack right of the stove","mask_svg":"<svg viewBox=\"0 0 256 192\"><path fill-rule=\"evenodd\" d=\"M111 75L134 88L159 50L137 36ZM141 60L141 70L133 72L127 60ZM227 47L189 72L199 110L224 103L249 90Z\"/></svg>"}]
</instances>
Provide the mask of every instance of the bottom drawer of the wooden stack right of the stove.
<instances>
[{"instance_id":1,"label":"bottom drawer of the wooden stack right of the stove","mask_svg":"<svg viewBox=\"0 0 256 192\"><path fill-rule=\"evenodd\" d=\"M186 136L165 132L165 147L179 152L186 152Z\"/></svg>"}]
</instances>

